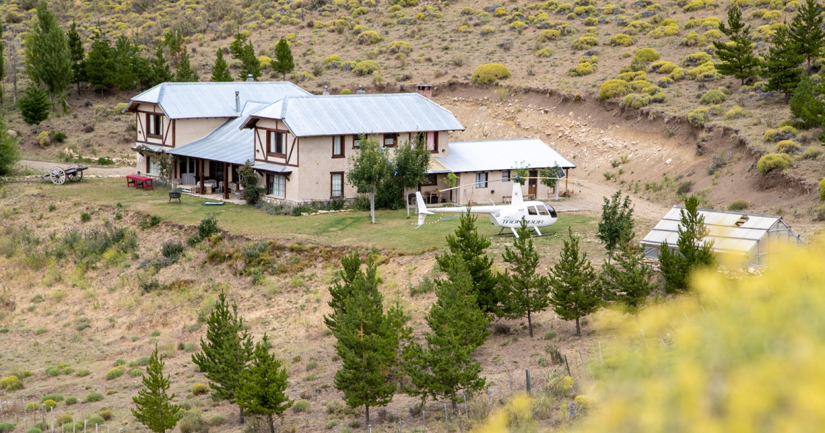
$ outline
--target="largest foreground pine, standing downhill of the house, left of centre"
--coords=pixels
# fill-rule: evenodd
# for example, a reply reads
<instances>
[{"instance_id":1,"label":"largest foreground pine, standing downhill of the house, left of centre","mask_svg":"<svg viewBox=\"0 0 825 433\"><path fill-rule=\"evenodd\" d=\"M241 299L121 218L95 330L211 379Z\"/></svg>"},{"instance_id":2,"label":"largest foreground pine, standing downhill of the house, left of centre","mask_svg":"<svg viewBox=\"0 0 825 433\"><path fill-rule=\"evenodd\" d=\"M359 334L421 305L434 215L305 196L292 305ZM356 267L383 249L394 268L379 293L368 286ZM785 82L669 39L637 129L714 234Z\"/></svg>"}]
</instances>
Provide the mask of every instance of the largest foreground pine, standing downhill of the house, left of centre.
<instances>
[{"instance_id":1,"label":"largest foreground pine, standing downhill of the house, left of centre","mask_svg":"<svg viewBox=\"0 0 825 433\"><path fill-rule=\"evenodd\" d=\"M368 261L367 266L375 264ZM330 303L336 308L330 330L342 364L335 373L335 388L344 393L350 407L365 407L366 424L370 423L370 407L389 403L395 391L385 374L394 361L394 351L388 344L378 284L376 272L358 272L351 281L350 294L342 292L346 297Z\"/></svg>"}]
</instances>

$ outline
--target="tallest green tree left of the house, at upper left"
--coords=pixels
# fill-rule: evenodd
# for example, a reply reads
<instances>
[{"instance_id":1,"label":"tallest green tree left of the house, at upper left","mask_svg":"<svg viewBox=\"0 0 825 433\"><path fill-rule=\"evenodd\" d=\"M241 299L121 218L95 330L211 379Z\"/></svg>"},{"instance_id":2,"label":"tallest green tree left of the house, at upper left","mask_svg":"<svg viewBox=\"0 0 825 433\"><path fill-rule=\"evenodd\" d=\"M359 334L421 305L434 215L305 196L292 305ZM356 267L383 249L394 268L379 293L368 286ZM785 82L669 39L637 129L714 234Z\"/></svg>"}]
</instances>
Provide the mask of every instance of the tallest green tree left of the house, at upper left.
<instances>
[{"instance_id":1,"label":"tallest green tree left of the house, at upper left","mask_svg":"<svg viewBox=\"0 0 825 433\"><path fill-rule=\"evenodd\" d=\"M48 4L37 4L37 21L26 35L26 73L41 83L51 100L59 98L66 109L64 92L72 78L72 59L66 35Z\"/></svg>"}]
</instances>

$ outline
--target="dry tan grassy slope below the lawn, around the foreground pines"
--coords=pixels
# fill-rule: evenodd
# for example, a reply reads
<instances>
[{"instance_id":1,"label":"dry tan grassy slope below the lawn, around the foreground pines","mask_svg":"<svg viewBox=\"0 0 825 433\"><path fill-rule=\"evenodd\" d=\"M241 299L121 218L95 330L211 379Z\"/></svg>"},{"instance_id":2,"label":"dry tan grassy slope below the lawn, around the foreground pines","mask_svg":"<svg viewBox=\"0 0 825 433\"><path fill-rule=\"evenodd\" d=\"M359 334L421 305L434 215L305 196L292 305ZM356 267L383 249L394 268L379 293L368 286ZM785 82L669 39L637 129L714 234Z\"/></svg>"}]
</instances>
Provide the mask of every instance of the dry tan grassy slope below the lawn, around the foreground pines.
<instances>
[{"instance_id":1,"label":"dry tan grassy slope below the lawn, around the foreground pines","mask_svg":"<svg viewBox=\"0 0 825 433\"><path fill-rule=\"evenodd\" d=\"M67 228L80 225L79 214L82 211L93 214L92 222L83 223L84 229L100 227L103 221L115 221L117 224L139 224L142 216L128 209L121 209L124 215L119 222L115 219L118 211L115 206L89 206L63 200L56 203L63 211L49 212L50 198L37 186L19 185L7 188L0 199L0 208L7 212L2 220L0 244L7 246L10 235L26 225L40 238L47 238L51 233L64 233ZM42 214L42 217L40 217ZM290 218L290 217L283 217ZM311 218L311 217L306 217ZM649 227L652 221L644 221ZM582 234L582 247L594 261L603 257L601 247L594 242L595 224L577 228ZM139 379L124 374L119 379L106 380L106 371L112 368L117 359L127 363L148 355L155 343L161 351L169 355L167 373L172 375L172 391L179 396L177 402L186 403L194 411L202 412L203 417L221 415L229 421L221 431L243 431L236 424L234 408L226 404L214 404L210 398L195 397L190 393L191 385L204 383L202 374L194 371L191 353L177 350L178 343L196 345L203 337L205 328L188 331L197 321L198 313L214 302L219 289L229 292L233 302L238 303L239 312L247 319L250 331L256 338L264 332L272 337L274 350L288 365L290 371L291 398L306 398L311 407L310 413L288 412L285 426L294 431L324 431L325 423L337 420L340 430L350 421L361 420L357 415L343 416L329 414L325 406L338 404L340 393L332 388L332 377L337 369L334 360L334 338L324 335L323 314L328 313L328 285L338 267L337 252L327 250L326 257L319 254L323 247L309 247L306 252L290 253L307 262L303 270L291 275L278 277L267 276L260 286L250 284L249 277L234 273L231 263L212 265L204 263L207 245L187 249L186 257L177 264L163 268L155 275L163 284L177 281L177 289L141 294L140 280L148 278L145 271L138 269L139 261L155 257L159 245L168 239L184 239L193 233L192 228L163 223L158 228L138 230L140 259L130 259L120 264L107 264L99 261L97 268L85 275L78 274L70 260L59 261L35 271L20 256L6 258L0 256L0 286L6 299L13 299L16 308L13 311L2 310L0 327L7 327L9 332L0 334L3 351L0 351L0 376L11 374L21 369L31 370L32 376L24 379L26 388L16 392L0 394L4 407L6 402L21 402L21 398L31 401L48 393L62 393L81 399L88 393L117 393L106 395L101 402L81 402L75 406L60 403L56 413L71 412L78 418L87 418L97 413L101 407L110 407L115 413L110 426L112 429L125 428L125 431L137 429L130 416L131 400L139 388ZM228 236L224 246L237 245L241 238ZM491 253L500 263L500 253L507 245L506 238L496 239ZM214 246L213 246L214 247ZM552 250L552 251L551 251ZM539 248L542 265L549 266L558 252L547 247ZM410 297L407 285L416 283L422 275L431 271L432 253L412 256L388 256L380 267L384 279L382 291L387 304L398 301L403 304L413 319L412 324L418 336L426 330L423 317L433 302L433 294ZM45 300L37 302L35 295L40 294ZM91 327L77 331L78 321L88 318ZM581 374L582 351L585 360L598 355L597 340L611 338L608 334L596 336L592 327L585 327L585 336L573 337L575 327L570 322L559 321L554 313L544 312L537 315L535 322L535 339L526 337L526 330L521 327L523 321L508 321L514 329L511 336L493 336L479 349L477 355L483 364L484 374L491 384L494 398L506 397L509 393L509 380L514 379L514 388L523 388L523 369L533 370L533 377L541 382L545 374L560 367L542 368L537 364L544 355L542 341L545 332L557 332L554 340L563 354L568 355L573 374ZM38 331L42 329L42 331ZM159 335L153 337L153 332ZM38 335L39 334L39 335ZM299 357L299 358L298 358ZM316 360L318 369L307 371L310 360ZM50 378L45 369L52 365L65 363L75 369L90 369L92 374L77 377L74 374ZM398 395L389 407L389 413L402 417L405 431L410 427L419 427L419 417L408 414L408 408L415 403L413 398ZM429 416L434 416L437 404L427 408ZM0 415L0 421L15 420L23 417L22 413ZM432 418L430 418L432 421ZM28 421L31 425L31 414ZM542 421L549 425L552 420ZM435 431L437 431L437 423ZM428 426L433 431L432 426ZM395 431L397 424L384 423L375 431ZM290 431L290 430L287 430Z\"/></svg>"}]
</instances>

